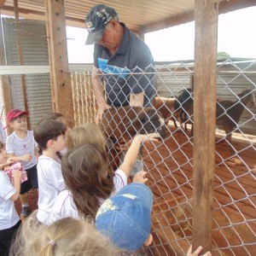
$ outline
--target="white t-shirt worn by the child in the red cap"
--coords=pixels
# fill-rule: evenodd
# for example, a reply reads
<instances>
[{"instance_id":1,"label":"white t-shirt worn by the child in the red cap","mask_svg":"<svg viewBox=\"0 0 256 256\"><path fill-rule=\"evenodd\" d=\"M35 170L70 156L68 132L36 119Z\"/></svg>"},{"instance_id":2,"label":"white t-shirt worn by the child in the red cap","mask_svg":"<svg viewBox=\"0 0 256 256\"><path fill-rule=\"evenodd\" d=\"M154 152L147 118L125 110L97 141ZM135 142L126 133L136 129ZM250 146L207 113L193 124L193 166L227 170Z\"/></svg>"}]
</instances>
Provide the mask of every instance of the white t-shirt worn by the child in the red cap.
<instances>
[{"instance_id":1,"label":"white t-shirt worn by the child in the red cap","mask_svg":"<svg viewBox=\"0 0 256 256\"><path fill-rule=\"evenodd\" d=\"M21 139L20 137L18 137L14 131L6 139L6 153L15 154L15 156L31 154L32 155L31 161L29 162L21 161L24 168L29 169L29 168L32 168L32 166L36 166L38 163L38 159L35 154L36 145L37 144L35 142L32 131L27 130L25 139Z\"/></svg>"}]
</instances>

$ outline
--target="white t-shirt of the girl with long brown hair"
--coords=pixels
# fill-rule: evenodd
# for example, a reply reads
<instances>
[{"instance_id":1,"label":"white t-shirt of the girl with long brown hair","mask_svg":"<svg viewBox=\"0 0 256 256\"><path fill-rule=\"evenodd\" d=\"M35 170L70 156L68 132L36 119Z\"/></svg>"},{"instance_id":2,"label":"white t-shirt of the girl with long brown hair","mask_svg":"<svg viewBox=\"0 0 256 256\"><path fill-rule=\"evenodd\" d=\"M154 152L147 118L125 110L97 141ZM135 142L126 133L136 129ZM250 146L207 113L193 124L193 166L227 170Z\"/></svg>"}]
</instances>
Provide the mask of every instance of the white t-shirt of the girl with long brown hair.
<instances>
[{"instance_id":1,"label":"white t-shirt of the girl with long brown hair","mask_svg":"<svg viewBox=\"0 0 256 256\"><path fill-rule=\"evenodd\" d=\"M124 188L127 185L127 177L125 175L125 172L120 169L115 171L113 183L115 189L113 190L110 197L117 194L120 189ZM99 201L102 204L105 200L100 198ZM79 218L79 212L74 204L72 193L68 190L63 190L55 200L55 205L52 208L52 212L50 214L50 224L58 219L66 217Z\"/></svg>"}]
</instances>

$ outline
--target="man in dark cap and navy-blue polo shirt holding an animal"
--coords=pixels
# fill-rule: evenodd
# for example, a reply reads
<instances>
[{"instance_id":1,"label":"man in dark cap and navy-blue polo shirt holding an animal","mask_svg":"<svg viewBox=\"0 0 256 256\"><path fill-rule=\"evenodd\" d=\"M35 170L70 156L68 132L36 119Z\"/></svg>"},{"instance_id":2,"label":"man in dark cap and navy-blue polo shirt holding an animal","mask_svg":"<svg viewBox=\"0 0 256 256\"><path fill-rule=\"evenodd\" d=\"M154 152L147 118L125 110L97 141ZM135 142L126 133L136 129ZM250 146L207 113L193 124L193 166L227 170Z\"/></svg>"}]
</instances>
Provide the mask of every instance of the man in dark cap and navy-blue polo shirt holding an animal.
<instances>
[{"instance_id":1,"label":"man in dark cap and navy-blue polo shirt holding an animal","mask_svg":"<svg viewBox=\"0 0 256 256\"><path fill-rule=\"evenodd\" d=\"M92 78L98 105L96 123L107 108L152 107L155 69L147 44L104 4L90 9L85 26L89 32L86 44L95 44Z\"/></svg>"}]
</instances>

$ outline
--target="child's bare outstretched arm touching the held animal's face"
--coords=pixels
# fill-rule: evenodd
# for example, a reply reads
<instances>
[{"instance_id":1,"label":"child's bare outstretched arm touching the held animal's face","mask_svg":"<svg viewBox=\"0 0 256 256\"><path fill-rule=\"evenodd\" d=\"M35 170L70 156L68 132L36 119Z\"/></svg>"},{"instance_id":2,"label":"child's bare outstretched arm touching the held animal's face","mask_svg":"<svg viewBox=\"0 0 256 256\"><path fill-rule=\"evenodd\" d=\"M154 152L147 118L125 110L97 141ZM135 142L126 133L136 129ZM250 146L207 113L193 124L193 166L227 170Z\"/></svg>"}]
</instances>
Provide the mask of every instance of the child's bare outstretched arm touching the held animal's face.
<instances>
[{"instance_id":1,"label":"child's bare outstretched arm touching the held animal's face","mask_svg":"<svg viewBox=\"0 0 256 256\"><path fill-rule=\"evenodd\" d=\"M125 154L124 162L119 166L123 172L125 172L126 176L130 176L131 168L134 166L135 161L137 160L137 154L139 153L139 149L141 147L141 143L145 143L148 141L158 142L158 138L160 137L159 133L150 133L150 134L139 134L133 138L131 142L130 148L127 150Z\"/></svg>"}]
</instances>

